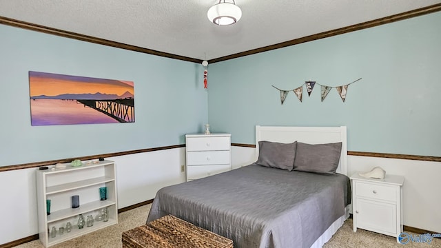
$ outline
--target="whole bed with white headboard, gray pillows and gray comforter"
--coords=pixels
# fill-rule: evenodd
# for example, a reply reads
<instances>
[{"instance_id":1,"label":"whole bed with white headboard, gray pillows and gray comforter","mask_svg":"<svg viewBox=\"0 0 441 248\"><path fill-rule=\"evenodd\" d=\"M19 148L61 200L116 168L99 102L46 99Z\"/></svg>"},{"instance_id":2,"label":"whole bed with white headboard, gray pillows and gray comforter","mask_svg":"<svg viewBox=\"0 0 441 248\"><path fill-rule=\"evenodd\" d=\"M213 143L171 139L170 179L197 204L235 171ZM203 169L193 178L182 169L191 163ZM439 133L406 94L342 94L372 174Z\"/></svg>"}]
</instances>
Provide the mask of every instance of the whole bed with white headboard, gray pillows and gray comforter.
<instances>
[{"instance_id":1,"label":"whole bed with white headboard, gray pillows and gray comforter","mask_svg":"<svg viewBox=\"0 0 441 248\"><path fill-rule=\"evenodd\" d=\"M147 223L172 214L238 248L322 247L349 216L346 174L346 127L256 126L255 163L160 189Z\"/></svg>"}]
</instances>

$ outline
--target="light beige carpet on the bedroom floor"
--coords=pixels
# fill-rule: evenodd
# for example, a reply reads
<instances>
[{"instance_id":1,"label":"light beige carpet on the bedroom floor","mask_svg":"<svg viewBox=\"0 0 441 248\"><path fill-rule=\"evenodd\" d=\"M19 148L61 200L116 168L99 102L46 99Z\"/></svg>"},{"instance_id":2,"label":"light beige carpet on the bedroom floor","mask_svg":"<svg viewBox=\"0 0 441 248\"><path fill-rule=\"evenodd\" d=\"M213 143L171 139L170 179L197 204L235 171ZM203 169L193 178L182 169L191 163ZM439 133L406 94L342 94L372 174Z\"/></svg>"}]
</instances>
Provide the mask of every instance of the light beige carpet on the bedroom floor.
<instances>
[{"instance_id":1,"label":"light beige carpet on the bedroom floor","mask_svg":"<svg viewBox=\"0 0 441 248\"><path fill-rule=\"evenodd\" d=\"M103 247L116 248L122 247L121 234L123 231L139 227L145 224L147 214L151 205L138 207L130 211L125 211L119 214L119 223L111 227L94 231L91 234L85 234L81 237L62 242L59 245L52 246L53 248L84 248L84 247ZM27 242L18 248L44 248L39 240ZM353 247L400 247L400 248L441 248L441 239L433 238L431 244L422 242L408 242L402 245L396 242L396 238L376 234L371 231L358 229L355 233L352 231L352 219L345 221L345 224L338 229L336 234L332 236L324 246L324 248L353 248ZM287 247L291 248L291 247ZM295 248L295 247L292 247Z\"/></svg>"}]
</instances>

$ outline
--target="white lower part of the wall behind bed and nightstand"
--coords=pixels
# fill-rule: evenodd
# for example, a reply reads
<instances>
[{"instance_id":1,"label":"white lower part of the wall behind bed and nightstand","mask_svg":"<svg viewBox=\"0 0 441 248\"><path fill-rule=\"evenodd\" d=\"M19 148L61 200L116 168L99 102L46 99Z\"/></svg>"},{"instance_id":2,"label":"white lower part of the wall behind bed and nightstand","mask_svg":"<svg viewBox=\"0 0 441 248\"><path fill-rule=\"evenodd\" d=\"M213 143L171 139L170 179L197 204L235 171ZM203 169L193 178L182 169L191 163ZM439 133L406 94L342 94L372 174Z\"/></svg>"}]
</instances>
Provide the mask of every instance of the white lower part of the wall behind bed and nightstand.
<instances>
[{"instance_id":1,"label":"white lower part of the wall behind bed and nightstand","mask_svg":"<svg viewBox=\"0 0 441 248\"><path fill-rule=\"evenodd\" d=\"M256 149L232 147L232 168L249 165L256 161ZM382 167L387 174L404 176L403 222L416 227L441 233L441 163L412 161L394 158L348 156L349 176L358 171Z\"/></svg>"}]
</instances>

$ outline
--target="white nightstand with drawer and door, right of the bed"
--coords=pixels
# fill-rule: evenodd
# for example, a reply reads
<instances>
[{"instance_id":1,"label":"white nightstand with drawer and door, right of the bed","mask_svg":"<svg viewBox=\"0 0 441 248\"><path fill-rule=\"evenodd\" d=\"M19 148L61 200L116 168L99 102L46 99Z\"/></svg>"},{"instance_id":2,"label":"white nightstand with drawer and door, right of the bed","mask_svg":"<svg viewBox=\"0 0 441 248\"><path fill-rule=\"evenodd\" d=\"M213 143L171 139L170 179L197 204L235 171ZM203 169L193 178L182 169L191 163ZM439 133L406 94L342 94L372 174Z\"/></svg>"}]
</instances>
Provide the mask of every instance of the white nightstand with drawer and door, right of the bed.
<instances>
[{"instance_id":1,"label":"white nightstand with drawer and door, right of the bed","mask_svg":"<svg viewBox=\"0 0 441 248\"><path fill-rule=\"evenodd\" d=\"M384 179L356 174L352 181L353 231L357 228L397 238L402 232L404 177L386 174Z\"/></svg>"}]
</instances>

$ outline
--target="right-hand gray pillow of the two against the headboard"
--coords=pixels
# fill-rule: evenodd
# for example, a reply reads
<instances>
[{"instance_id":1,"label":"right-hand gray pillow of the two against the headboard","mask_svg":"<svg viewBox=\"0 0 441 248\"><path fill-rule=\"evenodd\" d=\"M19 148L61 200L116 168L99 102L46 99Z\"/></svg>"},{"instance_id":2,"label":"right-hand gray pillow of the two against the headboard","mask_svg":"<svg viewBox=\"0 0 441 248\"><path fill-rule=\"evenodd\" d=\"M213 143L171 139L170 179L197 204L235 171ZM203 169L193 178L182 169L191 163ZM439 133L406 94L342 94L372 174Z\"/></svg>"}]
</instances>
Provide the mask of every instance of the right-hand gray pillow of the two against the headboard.
<instances>
[{"instance_id":1,"label":"right-hand gray pillow of the two against the headboard","mask_svg":"<svg viewBox=\"0 0 441 248\"><path fill-rule=\"evenodd\" d=\"M340 161L341 150L341 142L317 145L298 142L294 170L335 174Z\"/></svg>"}]
</instances>

